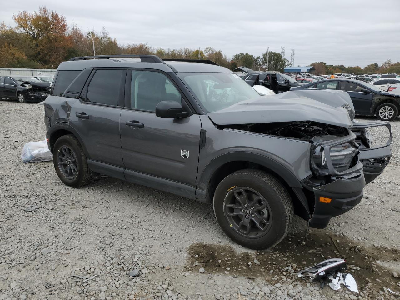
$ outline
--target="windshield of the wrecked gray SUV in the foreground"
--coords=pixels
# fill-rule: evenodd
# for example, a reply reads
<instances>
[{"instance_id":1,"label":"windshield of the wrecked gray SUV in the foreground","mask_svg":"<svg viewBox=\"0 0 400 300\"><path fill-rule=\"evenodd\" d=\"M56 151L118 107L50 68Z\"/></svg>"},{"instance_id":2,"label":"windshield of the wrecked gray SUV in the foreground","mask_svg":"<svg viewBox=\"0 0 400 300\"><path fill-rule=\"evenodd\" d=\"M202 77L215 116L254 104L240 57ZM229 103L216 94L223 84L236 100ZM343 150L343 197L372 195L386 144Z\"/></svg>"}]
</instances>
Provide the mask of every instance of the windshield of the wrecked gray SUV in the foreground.
<instances>
[{"instance_id":1,"label":"windshield of the wrecked gray SUV in the foreground","mask_svg":"<svg viewBox=\"0 0 400 300\"><path fill-rule=\"evenodd\" d=\"M206 112L215 112L260 94L232 73L177 73Z\"/></svg>"}]
</instances>

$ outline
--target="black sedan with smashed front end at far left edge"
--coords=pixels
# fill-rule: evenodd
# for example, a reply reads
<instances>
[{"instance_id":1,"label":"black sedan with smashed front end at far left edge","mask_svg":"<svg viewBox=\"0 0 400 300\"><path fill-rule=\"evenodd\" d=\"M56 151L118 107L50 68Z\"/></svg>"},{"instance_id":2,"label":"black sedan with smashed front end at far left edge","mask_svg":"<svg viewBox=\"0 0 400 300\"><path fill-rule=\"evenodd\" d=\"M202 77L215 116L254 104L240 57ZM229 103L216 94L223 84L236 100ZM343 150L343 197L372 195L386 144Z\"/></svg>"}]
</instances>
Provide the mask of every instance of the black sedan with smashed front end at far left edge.
<instances>
[{"instance_id":1,"label":"black sedan with smashed front end at far left edge","mask_svg":"<svg viewBox=\"0 0 400 300\"><path fill-rule=\"evenodd\" d=\"M0 100L15 99L20 103L42 102L50 94L50 83L40 82L32 76L0 77Z\"/></svg>"}]
</instances>

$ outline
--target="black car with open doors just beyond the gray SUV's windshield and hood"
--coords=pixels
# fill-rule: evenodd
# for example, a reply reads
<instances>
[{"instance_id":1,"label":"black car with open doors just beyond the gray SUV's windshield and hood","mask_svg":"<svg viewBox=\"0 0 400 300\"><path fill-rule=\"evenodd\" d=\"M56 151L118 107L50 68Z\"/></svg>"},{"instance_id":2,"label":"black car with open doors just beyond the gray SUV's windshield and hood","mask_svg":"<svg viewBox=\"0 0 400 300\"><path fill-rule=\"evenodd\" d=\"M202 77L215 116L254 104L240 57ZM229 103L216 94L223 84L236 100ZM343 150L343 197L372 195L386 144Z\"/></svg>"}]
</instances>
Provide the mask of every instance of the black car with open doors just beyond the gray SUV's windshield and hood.
<instances>
[{"instance_id":1,"label":"black car with open doors just beyond the gray SUV's windshield and hood","mask_svg":"<svg viewBox=\"0 0 400 300\"><path fill-rule=\"evenodd\" d=\"M246 74L243 78L250 86L262 85L276 94L286 92L294 86L302 86L304 83L297 82L292 77L282 73L254 72Z\"/></svg>"}]
</instances>

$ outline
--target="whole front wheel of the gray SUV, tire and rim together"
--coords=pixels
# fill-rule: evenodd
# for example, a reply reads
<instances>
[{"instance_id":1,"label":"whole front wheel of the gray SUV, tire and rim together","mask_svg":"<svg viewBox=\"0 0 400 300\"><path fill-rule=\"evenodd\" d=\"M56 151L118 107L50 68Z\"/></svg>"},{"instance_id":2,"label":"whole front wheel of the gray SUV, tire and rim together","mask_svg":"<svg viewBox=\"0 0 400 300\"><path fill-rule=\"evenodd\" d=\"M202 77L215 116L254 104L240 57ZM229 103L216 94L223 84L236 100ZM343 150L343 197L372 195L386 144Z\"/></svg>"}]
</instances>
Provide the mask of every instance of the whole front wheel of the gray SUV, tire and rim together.
<instances>
[{"instance_id":1,"label":"whole front wheel of the gray SUV, tire and rim together","mask_svg":"<svg viewBox=\"0 0 400 300\"><path fill-rule=\"evenodd\" d=\"M244 205L246 202L247 206ZM281 242L288 234L294 215L285 186L271 174L254 169L239 170L226 176L215 190L213 206L225 234L234 242L254 250Z\"/></svg>"}]
</instances>

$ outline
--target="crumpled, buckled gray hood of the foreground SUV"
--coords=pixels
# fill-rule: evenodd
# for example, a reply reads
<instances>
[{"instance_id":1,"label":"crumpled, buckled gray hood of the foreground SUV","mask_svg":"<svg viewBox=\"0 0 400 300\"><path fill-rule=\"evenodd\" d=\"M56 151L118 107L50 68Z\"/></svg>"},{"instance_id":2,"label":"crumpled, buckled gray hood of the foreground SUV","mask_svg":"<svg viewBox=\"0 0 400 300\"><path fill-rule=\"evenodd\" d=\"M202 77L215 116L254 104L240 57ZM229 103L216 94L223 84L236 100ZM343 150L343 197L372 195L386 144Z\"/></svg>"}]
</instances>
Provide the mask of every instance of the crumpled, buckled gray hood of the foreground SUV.
<instances>
[{"instance_id":1,"label":"crumpled, buckled gray hood of the foreground SUV","mask_svg":"<svg viewBox=\"0 0 400 300\"><path fill-rule=\"evenodd\" d=\"M300 96L295 91L244 100L222 110L209 112L208 116L218 125L314 121L353 127L345 108Z\"/></svg>"}]
</instances>

